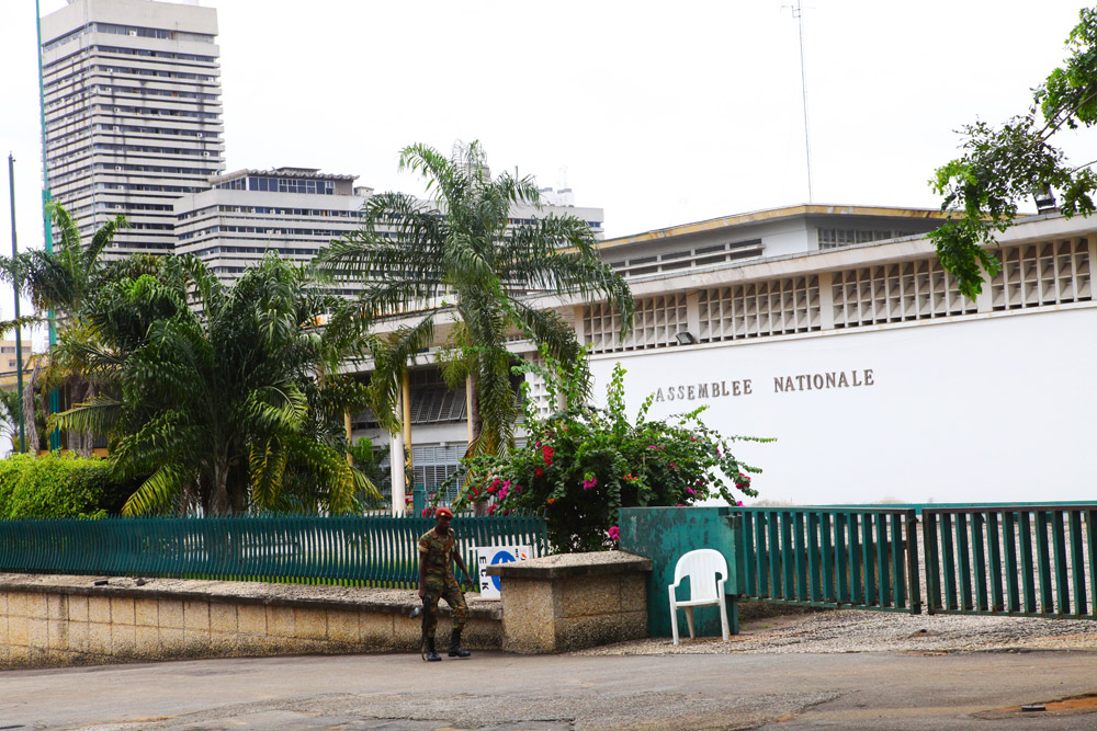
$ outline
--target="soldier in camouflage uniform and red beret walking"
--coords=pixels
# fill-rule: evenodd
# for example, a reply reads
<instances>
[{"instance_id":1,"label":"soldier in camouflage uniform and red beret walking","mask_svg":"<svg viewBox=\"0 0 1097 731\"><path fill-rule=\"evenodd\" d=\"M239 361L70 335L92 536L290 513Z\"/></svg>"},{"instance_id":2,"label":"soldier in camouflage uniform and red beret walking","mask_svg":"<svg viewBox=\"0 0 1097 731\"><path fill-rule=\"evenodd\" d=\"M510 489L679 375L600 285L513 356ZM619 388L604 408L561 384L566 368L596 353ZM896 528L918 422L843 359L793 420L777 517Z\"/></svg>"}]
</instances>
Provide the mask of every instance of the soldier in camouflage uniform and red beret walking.
<instances>
[{"instance_id":1,"label":"soldier in camouflage uniform and red beret walking","mask_svg":"<svg viewBox=\"0 0 1097 731\"><path fill-rule=\"evenodd\" d=\"M439 507L434 513L434 527L419 538L419 598L422 599L423 636L427 640L430 662L441 658L434 650L434 630L438 629L438 601L444 598L453 612L453 636L450 640L449 655L451 658L467 658L471 652L461 647L461 630L465 626L468 608L465 606L464 594L453 578L453 562L465 574L465 581L472 583L468 570L457 550L456 538L450 530L453 513L448 507Z\"/></svg>"}]
</instances>

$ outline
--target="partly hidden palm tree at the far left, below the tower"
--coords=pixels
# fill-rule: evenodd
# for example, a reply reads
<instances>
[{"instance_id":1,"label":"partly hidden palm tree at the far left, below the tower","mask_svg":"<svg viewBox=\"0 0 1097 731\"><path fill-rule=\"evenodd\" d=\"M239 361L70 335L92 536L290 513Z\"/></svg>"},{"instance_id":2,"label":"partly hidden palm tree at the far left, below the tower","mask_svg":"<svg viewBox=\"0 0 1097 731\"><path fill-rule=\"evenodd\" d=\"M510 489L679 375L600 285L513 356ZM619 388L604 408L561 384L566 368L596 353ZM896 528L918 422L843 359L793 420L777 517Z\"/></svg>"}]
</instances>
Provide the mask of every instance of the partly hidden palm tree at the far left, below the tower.
<instances>
[{"instance_id":1,"label":"partly hidden palm tree at the far left, below the tower","mask_svg":"<svg viewBox=\"0 0 1097 731\"><path fill-rule=\"evenodd\" d=\"M26 296L38 315L0 323L0 330L26 323L44 323L50 318L56 318L60 336L79 336L76 333L80 328L78 319L80 308L89 294L101 286L113 269L105 265L99 256L103 249L110 245L114 233L126 228L128 224L124 216L117 216L95 231L88 245L83 245L80 241L80 230L68 212L58 203L49 203L47 208L59 232L54 250L24 251L11 259L0 256L0 279L11 283L20 294ZM146 259L139 261L147 262ZM79 364L64 363L50 357L48 368L45 373L41 373L38 362L35 362L29 390L34 391L39 386L57 387L63 384L68 385L73 401L89 399L95 393L94 382L82 377ZM34 424L35 421L34 402L33 397L25 401L24 421L27 424ZM91 434L69 434L69 449L87 456L91 453L92 438ZM32 448L37 448L37 438L29 441L27 444L32 445Z\"/></svg>"}]
</instances>

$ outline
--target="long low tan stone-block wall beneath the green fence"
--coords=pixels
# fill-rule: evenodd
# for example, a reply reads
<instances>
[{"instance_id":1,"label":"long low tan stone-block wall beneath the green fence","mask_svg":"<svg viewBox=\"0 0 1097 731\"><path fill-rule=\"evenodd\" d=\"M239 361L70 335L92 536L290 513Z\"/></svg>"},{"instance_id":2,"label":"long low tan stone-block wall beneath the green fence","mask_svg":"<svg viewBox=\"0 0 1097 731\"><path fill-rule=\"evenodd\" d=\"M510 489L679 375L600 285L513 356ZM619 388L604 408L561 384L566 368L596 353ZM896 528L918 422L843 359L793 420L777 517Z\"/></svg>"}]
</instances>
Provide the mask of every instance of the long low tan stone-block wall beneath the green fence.
<instances>
[{"instance_id":1,"label":"long low tan stone-block wall beneath the green fence","mask_svg":"<svg viewBox=\"0 0 1097 731\"><path fill-rule=\"evenodd\" d=\"M294 589L285 585L270 585L267 596L256 597L226 593L229 582L176 582L220 587L212 594L200 586L155 589L155 580L125 587L92 586L87 576L50 579L43 584L0 575L0 669L419 649L420 623L407 616L414 604L371 599L371 590L326 601L276 596ZM323 594L327 587L307 589ZM443 612L438 637L444 642L449 633ZM499 649L498 603L473 602L462 639L470 649Z\"/></svg>"}]
</instances>

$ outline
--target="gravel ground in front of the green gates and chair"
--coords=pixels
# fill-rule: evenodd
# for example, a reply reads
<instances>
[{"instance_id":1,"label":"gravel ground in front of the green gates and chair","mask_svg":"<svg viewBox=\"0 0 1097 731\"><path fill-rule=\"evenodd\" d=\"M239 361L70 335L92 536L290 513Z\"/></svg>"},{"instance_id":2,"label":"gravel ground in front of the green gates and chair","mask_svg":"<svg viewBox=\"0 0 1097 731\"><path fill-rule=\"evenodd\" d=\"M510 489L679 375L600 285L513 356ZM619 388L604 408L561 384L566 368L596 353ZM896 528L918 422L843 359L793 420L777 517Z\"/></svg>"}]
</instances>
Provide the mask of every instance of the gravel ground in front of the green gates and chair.
<instances>
[{"instance_id":1,"label":"gravel ground in front of the green gates and chair","mask_svg":"<svg viewBox=\"0 0 1097 731\"><path fill-rule=\"evenodd\" d=\"M1097 621L1034 617L909 615L826 610L744 623L727 642L719 637L678 647L648 638L583 650L579 655L907 652L945 654L1027 650L1097 651Z\"/></svg>"}]
</instances>

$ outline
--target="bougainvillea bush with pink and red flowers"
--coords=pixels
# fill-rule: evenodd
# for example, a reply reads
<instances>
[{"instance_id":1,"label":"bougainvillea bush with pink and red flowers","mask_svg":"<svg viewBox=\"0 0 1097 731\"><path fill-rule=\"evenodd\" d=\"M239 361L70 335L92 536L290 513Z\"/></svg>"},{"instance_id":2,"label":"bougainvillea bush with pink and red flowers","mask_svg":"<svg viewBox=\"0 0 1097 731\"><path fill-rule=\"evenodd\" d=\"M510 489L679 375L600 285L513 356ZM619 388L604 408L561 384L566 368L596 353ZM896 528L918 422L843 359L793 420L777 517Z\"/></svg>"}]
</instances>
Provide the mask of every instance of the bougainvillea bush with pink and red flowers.
<instances>
[{"instance_id":1,"label":"bougainvillea bush with pink and red flowers","mask_svg":"<svg viewBox=\"0 0 1097 731\"><path fill-rule=\"evenodd\" d=\"M624 374L614 367L604 409L584 400L541 419L525 399L525 446L466 460L457 506L487 502L491 514L544 515L555 550L589 551L617 544L621 507L685 507L716 496L735 505L757 494L750 475L761 470L736 459L728 444L771 439L721 436L701 421L705 407L648 420L651 397L630 422ZM556 387L546 384L555 399Z\"/></svg>"}]
</instances>

